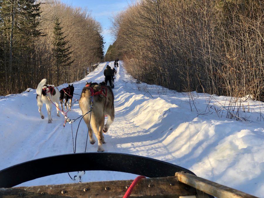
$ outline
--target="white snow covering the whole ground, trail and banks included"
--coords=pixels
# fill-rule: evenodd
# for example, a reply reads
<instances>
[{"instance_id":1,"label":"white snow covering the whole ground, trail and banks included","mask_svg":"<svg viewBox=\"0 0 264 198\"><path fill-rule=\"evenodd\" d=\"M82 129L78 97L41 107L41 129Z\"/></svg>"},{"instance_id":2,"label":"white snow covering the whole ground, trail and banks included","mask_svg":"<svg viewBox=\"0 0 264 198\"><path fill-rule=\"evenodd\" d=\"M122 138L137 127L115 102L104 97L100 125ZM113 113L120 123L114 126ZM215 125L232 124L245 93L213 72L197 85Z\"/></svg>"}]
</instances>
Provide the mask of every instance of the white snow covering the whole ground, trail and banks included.
<instances>
[{"instance_id":1,"label":"white snow covering the whole ground, trail and banks included","mask_svg":"<svg viewBox=\"0 0 264 198\"><path fill-rule=\"evenodd\" d=\"M114 67L114 62L101 63L84 79L70 82L75 87L75 99L79 99L86 81L104 80L106 65ZM178 93L157 85L136 83L123 68L122 61L116 70L115 120L104 135L105 152L163 160L187 168L199 177L264 197L263 102L242 98L236 103L231 97ZM72 131L75 139L79 120L63 127L64 117L57 117L53 108L53 122L49 124L45 105L42 108L45 119L41 119L35 88L0 97L0 170L33 159L73 153ZM81 116L78 102L67 115L70 119ZM84 152L86 137L87 126L82 120L76 153ZM88 141L86 152L96 151L97 142L91 145ZM82 182L135 177L121 172L87 171ZM71 182L75 181L63 173L18 186Z\"/></svg>"}]
</instances>

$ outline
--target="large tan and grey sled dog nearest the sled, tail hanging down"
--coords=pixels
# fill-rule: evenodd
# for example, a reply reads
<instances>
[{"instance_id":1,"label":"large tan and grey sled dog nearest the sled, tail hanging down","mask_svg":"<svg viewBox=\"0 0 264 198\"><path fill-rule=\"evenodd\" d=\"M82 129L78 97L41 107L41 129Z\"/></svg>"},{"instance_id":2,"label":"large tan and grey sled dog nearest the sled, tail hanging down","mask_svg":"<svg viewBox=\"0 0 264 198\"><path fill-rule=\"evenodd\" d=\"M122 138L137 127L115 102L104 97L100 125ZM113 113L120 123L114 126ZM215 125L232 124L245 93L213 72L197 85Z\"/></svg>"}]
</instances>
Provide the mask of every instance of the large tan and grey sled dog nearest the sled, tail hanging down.
<instances>
[{"instance_id":1,"label":"large tan and grey sled dog nearest the sled, tail hanging down","mask_svg":"<svg viewBox=\"0 0 264 198\"><path fill-rule=\"evenodd\" d=\"M92 111L90 111L90 105L92 104ZM95 139L93 133L98 140L98 152L104 151L102 146L104 141L103 132L106 133L109 126L113 123L115 118L114 110L114 94L109 86L106 86L105 82L101 83L88 83L82 89L82 94L79 100L79 106L82 110L83 119L89 127L90 143L94 144ZM108 116L106 124L104 124L105 116ZM90 121L91 116L91 121ZM92 127L92 128L91 128Z\"/></svg>"}]
</instances>

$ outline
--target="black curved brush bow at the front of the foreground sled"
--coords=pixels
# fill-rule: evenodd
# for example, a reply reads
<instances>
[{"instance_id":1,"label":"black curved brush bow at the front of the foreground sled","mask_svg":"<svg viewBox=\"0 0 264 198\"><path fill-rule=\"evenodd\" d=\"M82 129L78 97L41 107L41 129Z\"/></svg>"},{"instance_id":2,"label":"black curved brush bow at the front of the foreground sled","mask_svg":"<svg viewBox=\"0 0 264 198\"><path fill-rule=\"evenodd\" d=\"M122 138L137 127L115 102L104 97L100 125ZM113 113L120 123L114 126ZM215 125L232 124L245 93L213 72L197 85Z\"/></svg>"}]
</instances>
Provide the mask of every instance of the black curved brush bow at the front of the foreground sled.
<instances>
[{"instance_id":1,"label":"black curved brush bow at the front of the foreground sled","mask_svg":"<svg viewBox=\"0 0 264 198\"><path fill-rule=\"evenodd\" d=\"M0 188L10 188L48 175L80 170L107 170L143 175L145 177L174 176L190 170L137 155L122 153L75 153L31 160L0 170Z\"/></svg>"}]
</instances>

